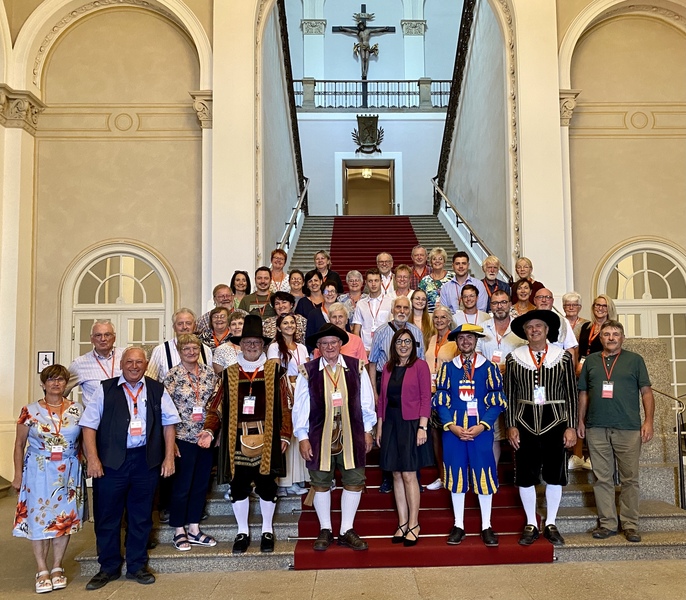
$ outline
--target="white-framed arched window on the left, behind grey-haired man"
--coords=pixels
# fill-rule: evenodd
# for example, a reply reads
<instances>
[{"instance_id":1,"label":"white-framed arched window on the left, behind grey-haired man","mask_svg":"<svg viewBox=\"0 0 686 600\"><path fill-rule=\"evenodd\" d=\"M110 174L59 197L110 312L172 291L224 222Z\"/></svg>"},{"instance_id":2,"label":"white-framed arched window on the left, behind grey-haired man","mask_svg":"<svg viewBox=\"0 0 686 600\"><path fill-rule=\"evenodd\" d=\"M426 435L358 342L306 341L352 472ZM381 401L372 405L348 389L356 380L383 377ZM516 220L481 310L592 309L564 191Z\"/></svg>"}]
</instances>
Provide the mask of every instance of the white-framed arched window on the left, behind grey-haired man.
<instances>
[{"instance_id":1,"label":"white-framed arched window on the left, behind grey-haired man","mask_svg":"<svg viewBox=\"0 0 686 600\"><path fill-rule=\"evenodd\" d=\"M142 248L115 244L88 253L70 269L63 290L62 322L70 327L61 344L65 364L91 349L95 319L113 322L119 347L149 351L165 338L173 286L160 260Z\"/></svg>"}]
</instances>

